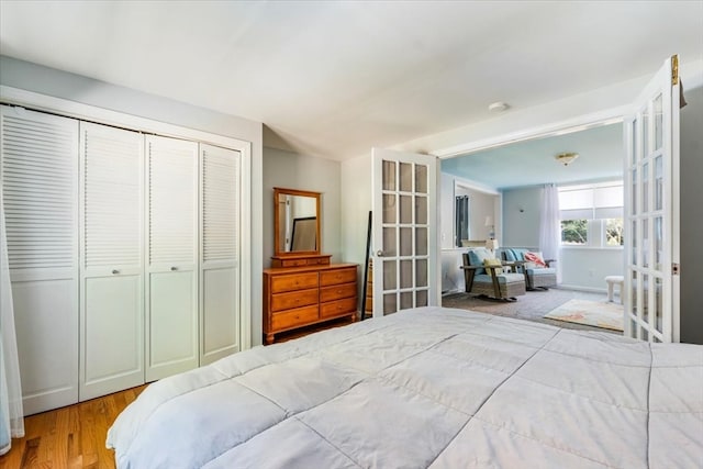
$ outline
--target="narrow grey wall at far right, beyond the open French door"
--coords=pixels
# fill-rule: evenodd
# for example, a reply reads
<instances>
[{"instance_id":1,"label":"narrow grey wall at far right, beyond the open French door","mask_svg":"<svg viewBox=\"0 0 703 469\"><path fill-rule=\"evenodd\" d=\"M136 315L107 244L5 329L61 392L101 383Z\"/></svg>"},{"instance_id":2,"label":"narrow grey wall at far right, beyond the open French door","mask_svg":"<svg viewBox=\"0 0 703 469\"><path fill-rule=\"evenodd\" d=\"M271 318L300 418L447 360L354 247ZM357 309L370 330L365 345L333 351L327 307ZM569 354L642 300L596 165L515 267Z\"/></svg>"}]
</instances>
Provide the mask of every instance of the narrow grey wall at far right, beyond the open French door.
<instances>
[{"instance_id":1,"label":"narrow grey wall at far right, beyond the open French door","mask_svg":"<svg viewBox=\"0 0 703 469\"><path fill-rule=\"evenodd\" d=\"M703 344L703 87L685 90L684 96L689 105L681 110L681 342Z\"/></svg>"}]
</instances>

